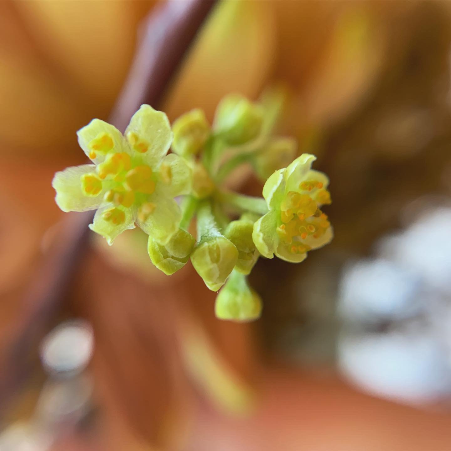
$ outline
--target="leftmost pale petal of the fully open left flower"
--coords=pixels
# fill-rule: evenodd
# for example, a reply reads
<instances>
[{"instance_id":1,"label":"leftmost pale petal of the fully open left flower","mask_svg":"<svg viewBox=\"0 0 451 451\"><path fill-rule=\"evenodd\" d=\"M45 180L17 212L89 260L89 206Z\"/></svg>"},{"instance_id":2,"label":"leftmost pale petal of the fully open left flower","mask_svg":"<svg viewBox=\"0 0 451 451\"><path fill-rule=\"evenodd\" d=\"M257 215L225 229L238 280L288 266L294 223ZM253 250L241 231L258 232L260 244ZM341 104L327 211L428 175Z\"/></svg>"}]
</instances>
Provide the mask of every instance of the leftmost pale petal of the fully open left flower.
<instances>
[{"instance_id":1,"label":"leftmost pale petal of the fully open left flower","mask_svg":"<svg viewBox=\"0 0 451 451\"><path fill-rule=\"evenodd\" d=\"M101 205L105 189L97 196L84 195L82 190L81 177L95 170L95 165L83 164L56 172L52 186L56 191L55 201L61 210L80 212L94 210Z\"/></svg>"}]
</instances>

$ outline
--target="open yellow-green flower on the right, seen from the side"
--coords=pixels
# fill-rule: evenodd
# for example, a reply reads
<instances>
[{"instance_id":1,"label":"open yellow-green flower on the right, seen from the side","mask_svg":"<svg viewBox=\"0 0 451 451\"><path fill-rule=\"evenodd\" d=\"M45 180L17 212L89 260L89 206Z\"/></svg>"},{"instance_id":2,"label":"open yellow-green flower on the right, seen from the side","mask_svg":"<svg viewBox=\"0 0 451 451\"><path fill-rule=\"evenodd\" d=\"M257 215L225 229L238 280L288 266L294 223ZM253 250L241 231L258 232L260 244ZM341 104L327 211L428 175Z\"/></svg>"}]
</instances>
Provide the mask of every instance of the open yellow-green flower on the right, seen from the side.
<instances>
[{"instance_id":1,"label":"open yellow-green flower on the right, seen from the side","mask_svg":"<svg viewBox=\"0 0 451 451\"><path fill-rule=\"evenodd\" d=\"M263 187L269 212L253 228L253 242L267 258L274 254L298 263L307 252L332 239L332 228L320 207L331 203L322 172L311 169L315 157L303 153L288 167L274 172Z\"/></svg>"}]
</instances>

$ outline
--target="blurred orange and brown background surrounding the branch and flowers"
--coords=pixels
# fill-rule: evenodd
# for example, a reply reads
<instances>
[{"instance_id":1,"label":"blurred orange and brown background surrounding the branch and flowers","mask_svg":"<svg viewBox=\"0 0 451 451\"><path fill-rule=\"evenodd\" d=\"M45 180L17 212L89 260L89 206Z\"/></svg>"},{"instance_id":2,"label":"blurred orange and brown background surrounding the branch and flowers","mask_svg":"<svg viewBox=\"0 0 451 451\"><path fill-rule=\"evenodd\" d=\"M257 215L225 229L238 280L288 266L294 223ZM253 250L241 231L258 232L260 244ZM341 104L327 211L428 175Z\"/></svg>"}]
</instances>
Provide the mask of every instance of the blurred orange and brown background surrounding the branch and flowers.
<instances>
[{"instance_id":1,"label":"blurred orange and brown background surrounding the branch and flowers","mask_svg":"<svg viewBox=\"0 0 451 451\"><path fill-rule=\"evenodd\" d=\"M53 174L84 162L76 130L108 118L165 6L0 3L2 372L68 227ZM448 450L450 25L448 2L218 2L158 107L212 119L227 93L283 89L280 132L331 178L334 241L301 265L260 261L262 318L235 324L189 265L153 268L142 232L89 235L46 325L83 331L57 343L78 369L49 373L35 343L2 406L5 449Z\"/></svg>"}]
</instances>

